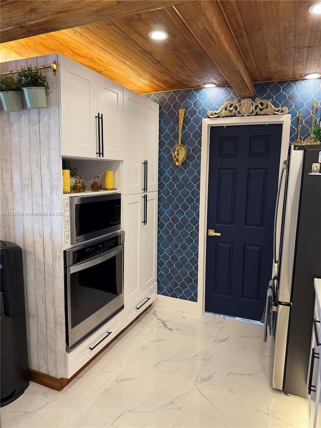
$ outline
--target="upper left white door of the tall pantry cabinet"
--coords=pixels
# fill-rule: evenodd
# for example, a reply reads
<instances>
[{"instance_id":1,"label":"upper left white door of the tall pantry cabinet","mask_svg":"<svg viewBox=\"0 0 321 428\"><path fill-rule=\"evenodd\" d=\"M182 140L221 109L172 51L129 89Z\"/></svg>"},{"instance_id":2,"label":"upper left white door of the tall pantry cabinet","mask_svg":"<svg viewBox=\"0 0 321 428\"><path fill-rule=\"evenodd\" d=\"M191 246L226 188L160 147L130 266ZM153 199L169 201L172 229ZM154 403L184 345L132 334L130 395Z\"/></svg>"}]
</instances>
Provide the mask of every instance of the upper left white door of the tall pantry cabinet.
<instances>
[{"instance_id":1,"label":"upper left white door of the tall pantry cabinet","mask_svg":"<svg viewBox=\"0 0 321 428\"><path fill-rule=\"evenodd\" d=\"M124 164L123 194L142 192L141 100L143 97L124 88Z\"/></svg>"}]
</instances>

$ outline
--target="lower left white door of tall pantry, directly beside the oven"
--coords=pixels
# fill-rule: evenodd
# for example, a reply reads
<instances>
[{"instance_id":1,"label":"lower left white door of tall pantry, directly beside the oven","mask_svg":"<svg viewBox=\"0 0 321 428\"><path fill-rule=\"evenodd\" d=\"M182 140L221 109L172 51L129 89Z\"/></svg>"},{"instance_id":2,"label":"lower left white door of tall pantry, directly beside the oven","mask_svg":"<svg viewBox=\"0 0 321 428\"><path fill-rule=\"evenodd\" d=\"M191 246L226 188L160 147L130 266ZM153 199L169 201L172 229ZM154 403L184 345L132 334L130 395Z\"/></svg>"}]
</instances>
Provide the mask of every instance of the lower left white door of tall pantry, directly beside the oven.
<instances>
[{"instance_id":1,"label":"lower left white door of tall pantry, directly beside the oven","mask_svg":"<svg viewBox=\"0 0 321 428\"><path fill-rule=\"evenodd\" d=\"M124 242L124 306L139 297L140 291L140 246L141 246L141 195L127 195L122 199Z\"/></svg>"}]
</instances>

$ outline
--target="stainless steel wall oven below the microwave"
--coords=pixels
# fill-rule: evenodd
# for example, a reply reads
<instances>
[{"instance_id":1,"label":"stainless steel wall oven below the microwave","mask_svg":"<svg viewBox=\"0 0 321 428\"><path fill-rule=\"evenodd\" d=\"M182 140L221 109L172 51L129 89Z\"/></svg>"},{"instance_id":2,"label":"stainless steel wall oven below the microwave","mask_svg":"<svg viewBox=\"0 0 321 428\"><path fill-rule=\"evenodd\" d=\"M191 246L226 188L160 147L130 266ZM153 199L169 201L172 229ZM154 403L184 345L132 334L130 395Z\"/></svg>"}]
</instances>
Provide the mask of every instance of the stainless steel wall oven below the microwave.
<instances>
[{"instance_id":1,"label":"stainless steel wall oven below the microwave","mask_svg":"<svg viewBox=\"0 0 321 428\"><path fill-rule=\"evenodd\" d=\"M124 232L64 251L67 351L124 307Z\"/></svg>"}]
</instances>

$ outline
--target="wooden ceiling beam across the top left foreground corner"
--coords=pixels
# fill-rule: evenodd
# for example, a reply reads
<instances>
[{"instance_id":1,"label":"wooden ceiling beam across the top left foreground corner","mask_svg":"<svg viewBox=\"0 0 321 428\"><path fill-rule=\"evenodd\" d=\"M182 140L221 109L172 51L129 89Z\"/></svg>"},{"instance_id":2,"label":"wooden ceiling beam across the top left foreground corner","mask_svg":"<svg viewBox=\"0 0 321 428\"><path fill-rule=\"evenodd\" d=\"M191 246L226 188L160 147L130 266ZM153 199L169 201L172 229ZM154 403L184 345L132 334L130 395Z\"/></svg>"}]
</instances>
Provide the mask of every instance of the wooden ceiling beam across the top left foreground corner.
<instances>
[{"instance_id":1,"label":"wooden ceiling beam across the top left foreground corner","mask_svg":"<svg viewBox=\"0 0 321 428\"><path fill-rule=\"evenodd\" d=\"M1 43L193 0L2 0Z\"/></svg>"}]
</instances>

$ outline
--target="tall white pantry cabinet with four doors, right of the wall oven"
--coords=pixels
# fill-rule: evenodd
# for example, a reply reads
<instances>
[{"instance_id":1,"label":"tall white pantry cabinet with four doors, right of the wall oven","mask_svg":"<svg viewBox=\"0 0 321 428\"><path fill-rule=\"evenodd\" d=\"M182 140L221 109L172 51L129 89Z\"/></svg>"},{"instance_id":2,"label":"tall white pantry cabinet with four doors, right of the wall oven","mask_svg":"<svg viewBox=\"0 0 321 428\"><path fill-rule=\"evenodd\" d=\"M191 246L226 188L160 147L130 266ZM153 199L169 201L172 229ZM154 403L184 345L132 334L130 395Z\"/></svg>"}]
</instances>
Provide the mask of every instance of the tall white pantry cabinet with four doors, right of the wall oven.
<instances>
[{"instance_id":1,"label":"tall white pantry cabinet with four doors, right of the wall oven","mask_svg":"<svg viewBox=\"0 0 321 428\"><path fill-rule=\"evenodd\" d=\"M124 324L157 294L158 104L125 89L123 165Z\"/></svg>"}]
</instances>

